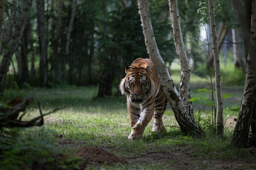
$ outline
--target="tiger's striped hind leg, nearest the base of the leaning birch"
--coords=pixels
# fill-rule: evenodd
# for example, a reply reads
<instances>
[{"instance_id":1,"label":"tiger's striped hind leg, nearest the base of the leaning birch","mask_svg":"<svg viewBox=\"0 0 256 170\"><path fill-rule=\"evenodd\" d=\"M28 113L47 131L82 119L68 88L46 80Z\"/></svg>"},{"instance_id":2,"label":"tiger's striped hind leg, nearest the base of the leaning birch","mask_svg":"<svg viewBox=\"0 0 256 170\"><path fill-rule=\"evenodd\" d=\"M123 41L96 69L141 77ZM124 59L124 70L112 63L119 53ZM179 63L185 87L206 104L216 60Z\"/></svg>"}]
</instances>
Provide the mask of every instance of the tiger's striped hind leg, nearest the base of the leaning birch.
<instances>
[{"instance_id":1,"label":"tiger's striped hind leg, nearest the base of the leaning birch","mask_svg":"<svg viewBox=\"0 0 256 170\"><path fill-rule=\"evenodd\" d=\"M163 91L163 93L164 93L164 91ZM165 95L165 94L163 94L163 95ZM156 133L166 131L164 122L162 120L162 116L163 116L166 106L167 106L167 99L165 96L162 96L163 98L162 98L161 102L158 102L161 99L161 96L159 96L159 97L160 97L159 100L156 99L156 103L155 103L156 106L155 106L155 111L154 111L154 123L153 123L153 128L152 128L152 131L156 132Z\"/></svg>"}]
</instances>

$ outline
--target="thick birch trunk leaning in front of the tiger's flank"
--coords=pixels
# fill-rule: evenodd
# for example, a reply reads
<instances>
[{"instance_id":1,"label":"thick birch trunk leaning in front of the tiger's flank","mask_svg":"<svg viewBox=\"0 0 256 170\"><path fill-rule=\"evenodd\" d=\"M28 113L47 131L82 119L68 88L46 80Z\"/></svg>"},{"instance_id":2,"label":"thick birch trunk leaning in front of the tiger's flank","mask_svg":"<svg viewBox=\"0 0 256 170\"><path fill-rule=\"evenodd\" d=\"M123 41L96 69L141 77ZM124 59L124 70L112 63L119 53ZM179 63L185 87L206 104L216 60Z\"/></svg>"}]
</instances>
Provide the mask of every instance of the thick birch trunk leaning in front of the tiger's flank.
<instances>
[{"instance_id":1,"label":"thick birch trunk leaning in front of the tiger's flank","mask_svg":"<svg viewBox=\"0 0 256 170\"><path fill-rule=\"evenodd\" d=\"M184 133L202 136L203 130L195 123L194 119L192 119L186 111L182 99L180 98L179 93L174 86L174 82L171 79L170 72L159 53L155 36L153 34L147 0L138 0L138 8L147 52L156 67L157 74L164 88L165 94L167 95L168 102L174 111L174 116Z\"/></svg>"}]
</instances>

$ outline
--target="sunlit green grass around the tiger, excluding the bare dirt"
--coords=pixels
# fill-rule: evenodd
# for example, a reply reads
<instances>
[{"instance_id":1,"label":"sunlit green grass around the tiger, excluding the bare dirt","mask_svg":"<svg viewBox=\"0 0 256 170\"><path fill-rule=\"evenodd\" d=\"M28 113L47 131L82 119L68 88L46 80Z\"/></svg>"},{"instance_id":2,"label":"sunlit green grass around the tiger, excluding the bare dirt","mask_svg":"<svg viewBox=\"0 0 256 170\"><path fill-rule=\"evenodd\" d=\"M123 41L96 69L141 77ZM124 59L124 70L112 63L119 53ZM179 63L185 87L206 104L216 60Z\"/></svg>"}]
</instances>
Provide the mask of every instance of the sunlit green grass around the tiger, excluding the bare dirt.
<instances>
[{"instance_id":1,"label":"sunlit green grass around the tiger, excluding the bare dirt","mask_svg":"<svg viewBox=\"0 0 256 170\"><path fill-rule=\"evenodd\" d=\"M239 106L241 99L241 89L227 91L235 99L224 100L224 118L237 115L230 111L231 108ZM238 150L231 146L231 130L225 130L227 139L219 139L209 133L208 119L211 119L211 110L205 106L204 101L196 100L194 104L194 114L201 114L200 122L206 131L206 138L194 139L184 136L174 118L174 113L168 106L163 116L167 133L154 134L151 132L153 120L147 126L144 135L137 141L128 141L130 133L129 116L126 108L124 96L109 98L95 98L97 87L66 87L66 88L30 88L17 91L6 90L1 101L6 102L15 96L22 95L23 98L33 96L35 102L29 105L24 119L31 119L38 116L37 101L40 101L43 113L52 111L54 108L63 108L56 113L45 117L44 127L32 127L25 129L21 134L28 140L39 139L38 134L43 131L40 140L55 138L52 143L57 147L54 153L64 153L72 156L79 147L82 146L101 146L108 148L116 156L129 158L138 156L142 153L174 153L179 150L188 152L189 156L197 159L255 159L247 150ZM203 93L196 89L191 89L191 96L211 97L211 93ZM238 100L236 100L238 99ZM204 124L202 124L204 123ZM55 137L56 136L56 137ZM48 155L49 156L49 155ZM129 169L162 169L170 168L170 164L160 162L159 164L117 164L115 166L102 165L106 169L118 169L129 166ZM91 168L95 168L92 166ZM123 168L126 169L126 168Z\"/></svg>"}]
</instances>

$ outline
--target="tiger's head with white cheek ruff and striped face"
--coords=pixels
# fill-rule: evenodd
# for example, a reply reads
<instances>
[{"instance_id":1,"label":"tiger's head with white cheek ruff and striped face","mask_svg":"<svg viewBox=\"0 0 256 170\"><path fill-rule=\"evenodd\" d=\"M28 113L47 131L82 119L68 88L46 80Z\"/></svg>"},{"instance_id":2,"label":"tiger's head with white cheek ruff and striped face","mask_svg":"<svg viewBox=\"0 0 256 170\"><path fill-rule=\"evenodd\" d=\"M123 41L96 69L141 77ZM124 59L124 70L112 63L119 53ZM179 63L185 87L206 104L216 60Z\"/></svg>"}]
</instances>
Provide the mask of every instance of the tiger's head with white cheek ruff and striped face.
<instances>
[{"instance_id":1,"label":"tiger's head with white cheek ruff and striped face","mask_svg":"<svg viewBox=\"0 0 256 170\"><path fill-rule=\"evenodd\" d=\"M122 94L129 96L131 102L137 103L152 96L155 84L150 78L150 66L137 68L127 65L125 72L126 77L119 85Z\"/></svg>"}]
</instances>

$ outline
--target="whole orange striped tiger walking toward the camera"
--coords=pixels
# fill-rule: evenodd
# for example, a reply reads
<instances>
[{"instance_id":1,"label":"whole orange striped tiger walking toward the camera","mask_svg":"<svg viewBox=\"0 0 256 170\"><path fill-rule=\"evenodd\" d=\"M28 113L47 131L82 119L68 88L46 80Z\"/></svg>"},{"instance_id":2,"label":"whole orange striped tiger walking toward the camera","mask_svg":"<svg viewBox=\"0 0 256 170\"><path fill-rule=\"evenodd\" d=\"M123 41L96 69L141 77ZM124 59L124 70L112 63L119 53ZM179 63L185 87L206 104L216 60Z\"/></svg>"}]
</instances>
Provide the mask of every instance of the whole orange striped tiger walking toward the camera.
<instances>
[{"instance_id":1,"label":"whole orange striped tiger walking toward the camera","mask_svg":"<svg viewBox=\"0 0 256 170\"><path fill-rule=\"evenodd\" d=\"M135 59L131 65L125 67L125 73L119 89L121 94L127 96L127 110L132 128L128 139L140 138L152 117L152 131L166 131L162 116L167 106L167 96L151 59Z\"/></svg>"}]
</instances>

